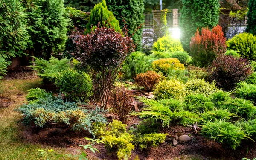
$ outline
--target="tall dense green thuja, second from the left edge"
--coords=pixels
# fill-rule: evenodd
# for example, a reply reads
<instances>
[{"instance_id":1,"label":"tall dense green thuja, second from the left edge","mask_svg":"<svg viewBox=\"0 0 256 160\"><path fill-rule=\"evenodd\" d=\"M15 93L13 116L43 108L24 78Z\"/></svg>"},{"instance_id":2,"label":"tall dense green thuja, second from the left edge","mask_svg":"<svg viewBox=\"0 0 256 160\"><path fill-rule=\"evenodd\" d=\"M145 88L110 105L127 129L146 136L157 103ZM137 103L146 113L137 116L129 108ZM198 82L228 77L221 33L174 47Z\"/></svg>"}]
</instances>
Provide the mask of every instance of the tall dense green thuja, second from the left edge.
<instances>
[{"instance_id":1,"label":"tall dense green thuja, second from the left edge","mask_svg":"<svg viewBox=\"0 0 256 160\"><path fill-rule=\"evenodd\" d=\"M68 18L63 0L26 1L28 31L31 36L29 53L49 59L65 49Z\"/></svg>"}]
</instances>

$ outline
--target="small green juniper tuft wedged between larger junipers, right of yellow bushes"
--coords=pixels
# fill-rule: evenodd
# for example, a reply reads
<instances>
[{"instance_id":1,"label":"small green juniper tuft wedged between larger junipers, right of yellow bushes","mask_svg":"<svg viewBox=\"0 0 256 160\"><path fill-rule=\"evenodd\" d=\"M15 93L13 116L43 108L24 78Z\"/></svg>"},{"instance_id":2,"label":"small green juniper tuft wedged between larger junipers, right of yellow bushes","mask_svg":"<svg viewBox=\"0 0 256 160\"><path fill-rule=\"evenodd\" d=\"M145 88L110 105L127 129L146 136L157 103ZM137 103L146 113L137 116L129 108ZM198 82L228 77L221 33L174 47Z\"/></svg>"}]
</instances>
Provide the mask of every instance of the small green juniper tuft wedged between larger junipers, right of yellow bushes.
<instances>
[{"instance_id":1,"label":"small green juniper tuft wedged between larger junipers, right of yellow bushes","mask_svg":"<svg viewBox=\"0 0 256 160\"><path fill-rule=\"evenodd\" d=\"M231 93L230 92L224 92L222 90L219 90L218 92L212 93L209 98L211 101L214 103L215 107L217 108L222 108L222 106L232 99L230 97Z\"/></svg>"}]
</instances>

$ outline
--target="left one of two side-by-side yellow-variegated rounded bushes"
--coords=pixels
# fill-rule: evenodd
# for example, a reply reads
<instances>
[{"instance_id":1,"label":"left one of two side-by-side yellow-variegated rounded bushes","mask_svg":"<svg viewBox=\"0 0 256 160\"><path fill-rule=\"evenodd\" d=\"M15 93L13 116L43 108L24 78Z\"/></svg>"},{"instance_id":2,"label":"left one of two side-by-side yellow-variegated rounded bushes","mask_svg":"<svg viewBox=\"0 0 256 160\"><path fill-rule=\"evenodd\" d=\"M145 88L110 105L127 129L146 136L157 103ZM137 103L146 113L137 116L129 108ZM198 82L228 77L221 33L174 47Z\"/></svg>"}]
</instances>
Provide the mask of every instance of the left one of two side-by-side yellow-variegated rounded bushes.
<instances>
[{"instance_id":1,"label":"left one of two side-by-side yellow-variegated rounded bushes","mask_svg":"<svg viewBox=\"0 0 256 160\"><path fill-rule=\"evenodd\" d=\"M160 81L154 89L157 99L180 99L185 95L185 87L177 80Z\"/></svg>"}]
</instances>

